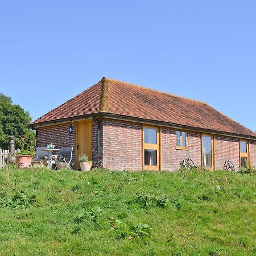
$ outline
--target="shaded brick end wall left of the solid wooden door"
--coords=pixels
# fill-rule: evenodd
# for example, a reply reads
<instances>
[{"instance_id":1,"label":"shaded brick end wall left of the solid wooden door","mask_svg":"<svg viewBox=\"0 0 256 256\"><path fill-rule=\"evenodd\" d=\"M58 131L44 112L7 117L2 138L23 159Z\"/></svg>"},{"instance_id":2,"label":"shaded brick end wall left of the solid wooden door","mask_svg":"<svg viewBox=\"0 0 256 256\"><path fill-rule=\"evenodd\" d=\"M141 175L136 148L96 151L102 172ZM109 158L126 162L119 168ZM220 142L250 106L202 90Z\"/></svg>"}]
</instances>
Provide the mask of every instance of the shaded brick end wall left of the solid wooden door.
<instances>
[{"instance_id":1,"label":"shaded brick end wall left of the solid wooden door","mask_svg":"<svg viewBox=\"0 0 256 256\"><path fill-rule=\"evenodd\" d=\"M68 127L71 125L73 126L73 134L68 133ZM63 123L39 127L36 130L38 138L36 146L46 147L49 142L52 142L56 148L61 148L61 146L74 146L73 159L76 159L76 123Z\"/></svg>"}]
</instances>

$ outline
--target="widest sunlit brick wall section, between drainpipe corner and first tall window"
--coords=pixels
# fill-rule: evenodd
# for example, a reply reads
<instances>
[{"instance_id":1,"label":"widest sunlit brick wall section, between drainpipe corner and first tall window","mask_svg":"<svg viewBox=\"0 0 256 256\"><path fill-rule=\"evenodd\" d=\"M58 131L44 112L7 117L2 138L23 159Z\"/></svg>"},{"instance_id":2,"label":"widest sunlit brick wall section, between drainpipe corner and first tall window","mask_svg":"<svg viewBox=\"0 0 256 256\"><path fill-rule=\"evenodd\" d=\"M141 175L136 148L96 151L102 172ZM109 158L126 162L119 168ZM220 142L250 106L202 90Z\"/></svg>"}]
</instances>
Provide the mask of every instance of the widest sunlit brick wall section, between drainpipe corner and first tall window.
<instances>
[{"instance_id":1,"label":"widest sunlit brick wall section, between drainpipe corner and first tall window","mask_svg":"<svg viewBox=\"0 0 256 256\"><path fill-rule=\"evenodd\" d=\"M103 167L110 170L142 169L142 128L138 123L102 120Z\"/></svg>"}]
</instances>

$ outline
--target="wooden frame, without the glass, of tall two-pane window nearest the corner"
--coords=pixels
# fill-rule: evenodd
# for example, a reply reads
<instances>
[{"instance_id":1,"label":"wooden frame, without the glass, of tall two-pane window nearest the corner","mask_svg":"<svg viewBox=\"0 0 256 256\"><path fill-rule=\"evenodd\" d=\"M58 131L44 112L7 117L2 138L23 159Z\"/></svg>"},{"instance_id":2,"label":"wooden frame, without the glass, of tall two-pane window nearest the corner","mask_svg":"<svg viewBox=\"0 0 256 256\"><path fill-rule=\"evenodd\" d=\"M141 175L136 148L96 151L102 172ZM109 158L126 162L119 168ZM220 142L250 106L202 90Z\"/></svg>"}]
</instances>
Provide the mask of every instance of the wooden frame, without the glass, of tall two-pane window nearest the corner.
<instances>
[{"instance_id":1,"label":"wooden frame, without the glass, of tall two-pane window nearest the corner","mask_svg":"<svg viewBox=\"0 0 256 256\"><path fill-rule=\"evenodd\" d=\"M148 129L155 129L157 130L156 132L156 144L151 144L151 143L144 143L144 128ZM161 128L159 126L151 126L151 125L142 125L142 170L147 170L147 171L160 171L160 166L161 166L161 158L160 158L160 133L161 133ZM146 166L144 164L144 150L157 150L157 165L156 166Z\"/></svg>"}]
</instances>

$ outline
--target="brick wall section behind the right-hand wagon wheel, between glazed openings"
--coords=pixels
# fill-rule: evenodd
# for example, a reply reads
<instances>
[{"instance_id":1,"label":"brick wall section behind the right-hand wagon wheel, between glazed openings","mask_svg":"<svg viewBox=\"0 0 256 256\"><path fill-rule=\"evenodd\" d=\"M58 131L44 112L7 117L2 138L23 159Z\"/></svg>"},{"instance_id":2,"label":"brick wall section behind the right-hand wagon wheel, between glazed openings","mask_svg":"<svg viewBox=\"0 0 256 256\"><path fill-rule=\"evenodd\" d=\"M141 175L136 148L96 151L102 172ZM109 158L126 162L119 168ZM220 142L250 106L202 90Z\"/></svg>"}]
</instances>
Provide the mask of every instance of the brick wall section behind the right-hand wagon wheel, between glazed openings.
<instances>
[{"instance_id":1,"label":"brick wall section behind the right-hand wagon wheel, between glazed openings","mask_svg":"<svg viewBox=\"0 0 256 256\"><path fill-rule=\"evenodd\" d=\"M214 136L215 170L223 170L226 160L231 160L238 170L240 166L239 139Z\"/></svg>"}]
</instances>

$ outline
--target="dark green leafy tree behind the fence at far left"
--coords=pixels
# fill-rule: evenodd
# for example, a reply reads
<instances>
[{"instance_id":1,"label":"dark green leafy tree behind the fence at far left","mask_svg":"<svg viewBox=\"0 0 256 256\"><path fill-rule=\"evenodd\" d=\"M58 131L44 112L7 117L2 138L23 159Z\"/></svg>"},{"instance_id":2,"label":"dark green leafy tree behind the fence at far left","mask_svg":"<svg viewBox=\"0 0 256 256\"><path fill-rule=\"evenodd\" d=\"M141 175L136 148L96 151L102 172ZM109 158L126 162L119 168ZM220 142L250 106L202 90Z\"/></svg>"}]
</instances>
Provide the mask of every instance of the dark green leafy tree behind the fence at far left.
<instances>
[{"instance_id":1,"label":"dark green leafy tree behind the fence at far left","mask_svg":"<svg viewBox=\"0 0 256 256\"><path fill-rule=\"evenodd\" d=\"M19 105L13 104L11 97L0 93L0 147L8 148L9 136L15 137L16 147L20 147L19 137L34 138L35 133L28 128L32 118Z\"/></svg>"}]
</instances>

